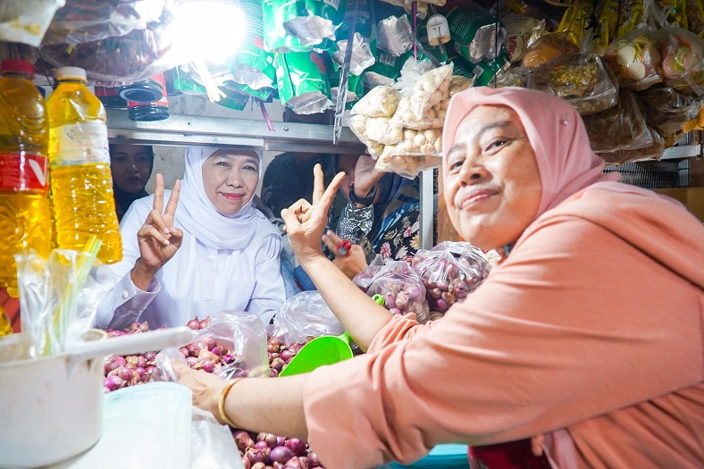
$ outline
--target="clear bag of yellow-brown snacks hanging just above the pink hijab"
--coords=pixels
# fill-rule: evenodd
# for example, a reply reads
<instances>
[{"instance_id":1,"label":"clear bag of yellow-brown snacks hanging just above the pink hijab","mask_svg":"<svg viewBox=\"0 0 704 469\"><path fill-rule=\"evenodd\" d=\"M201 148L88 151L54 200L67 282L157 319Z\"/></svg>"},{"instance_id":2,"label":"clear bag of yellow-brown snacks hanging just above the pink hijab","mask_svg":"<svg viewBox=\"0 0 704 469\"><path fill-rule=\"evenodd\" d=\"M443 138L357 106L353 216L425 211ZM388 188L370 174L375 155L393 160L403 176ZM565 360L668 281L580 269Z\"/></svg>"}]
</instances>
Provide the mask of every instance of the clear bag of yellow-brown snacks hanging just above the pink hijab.
<instances>
[{"instance_id":1,"label":"clear bag of yellow-brown snacks hanging just above the pink hijab","mask_svg":"<svg viewBox=\"0 0 704 469\"><path fill-rule=\"evenodd\" d=\"M565 98L582 115L616 105L618 88L597 54L565 54L533 70L528 88Z\"/></svg>"}]
</instances>

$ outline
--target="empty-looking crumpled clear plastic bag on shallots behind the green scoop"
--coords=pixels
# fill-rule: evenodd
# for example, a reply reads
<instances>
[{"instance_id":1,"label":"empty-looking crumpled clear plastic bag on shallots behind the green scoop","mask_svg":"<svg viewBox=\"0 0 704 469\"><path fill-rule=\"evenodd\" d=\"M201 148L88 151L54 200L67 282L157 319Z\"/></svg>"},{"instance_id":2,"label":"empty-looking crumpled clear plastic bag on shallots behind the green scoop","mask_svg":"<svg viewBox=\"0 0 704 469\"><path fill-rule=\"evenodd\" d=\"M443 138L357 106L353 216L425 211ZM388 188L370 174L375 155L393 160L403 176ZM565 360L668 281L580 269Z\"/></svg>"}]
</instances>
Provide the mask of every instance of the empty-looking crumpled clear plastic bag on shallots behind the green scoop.
<instances>
[{"instance_id":1,"label":"empty-looking crumpled clear plastic bag on shallots behind the green scoop","mask_svg":"<svg viewBox=\"0 0 704 469\"><path fill-rule=\"evenodd\" d=\"M285 344L306 343L310 337L337 336L345 331L317 291L290 297L273 317L271 336Z\"/></svg>"}]
</instances>

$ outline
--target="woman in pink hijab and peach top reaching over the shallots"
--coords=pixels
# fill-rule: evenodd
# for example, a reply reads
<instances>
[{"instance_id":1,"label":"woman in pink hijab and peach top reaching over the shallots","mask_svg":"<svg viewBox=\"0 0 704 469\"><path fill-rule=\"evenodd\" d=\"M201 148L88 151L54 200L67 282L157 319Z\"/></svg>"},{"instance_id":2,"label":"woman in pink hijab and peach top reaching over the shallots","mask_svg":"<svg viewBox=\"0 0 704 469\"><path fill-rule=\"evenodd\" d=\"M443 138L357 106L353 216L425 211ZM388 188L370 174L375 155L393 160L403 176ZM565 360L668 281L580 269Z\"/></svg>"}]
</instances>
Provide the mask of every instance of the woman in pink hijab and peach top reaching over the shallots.
<instances>
[{"instance_id":1,"label":"woman in pink hijab and peach top reaching over the shallots","mask_svg":"<svg viewBox=\"0 0 704 469\"><path fill-rule=\"evenodd\" d=\"M235 385L178 367L194 403L304 438L329 468L532 437L554 467L704 466L700 222L603 175L579 114L548 94L466 90L443 142L453 225L504 255L482 286L440 320L390 318L320 252L340 178L323 191L318 168L314 204L284 211L286 228L367 353Z\"/></svg>"}]
</instances>

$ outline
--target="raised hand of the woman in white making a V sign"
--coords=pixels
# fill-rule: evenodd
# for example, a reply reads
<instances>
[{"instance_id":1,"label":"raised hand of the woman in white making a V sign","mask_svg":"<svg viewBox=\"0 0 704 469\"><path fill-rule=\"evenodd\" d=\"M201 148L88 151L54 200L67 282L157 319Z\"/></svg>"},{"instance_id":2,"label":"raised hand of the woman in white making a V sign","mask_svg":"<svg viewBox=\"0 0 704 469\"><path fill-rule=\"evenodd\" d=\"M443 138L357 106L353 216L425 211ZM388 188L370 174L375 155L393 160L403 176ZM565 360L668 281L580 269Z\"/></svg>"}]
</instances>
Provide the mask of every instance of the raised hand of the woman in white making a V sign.
<instances>
[{"instance_id":1,"label":"raised hand of the woman in white making a V sign","mask_svg":"<svg viewBox=\"0 0 704 469\"><path fill-rule=\"evenodd\" d=\"M156 272L179 250L183 231L173 226L179 195L180 180L176 180L164 211L163 176L156 174L154 205L137 232L139 258L132 269L131 278L138 289L147 290Z\"/></svg>"}]
</instances>

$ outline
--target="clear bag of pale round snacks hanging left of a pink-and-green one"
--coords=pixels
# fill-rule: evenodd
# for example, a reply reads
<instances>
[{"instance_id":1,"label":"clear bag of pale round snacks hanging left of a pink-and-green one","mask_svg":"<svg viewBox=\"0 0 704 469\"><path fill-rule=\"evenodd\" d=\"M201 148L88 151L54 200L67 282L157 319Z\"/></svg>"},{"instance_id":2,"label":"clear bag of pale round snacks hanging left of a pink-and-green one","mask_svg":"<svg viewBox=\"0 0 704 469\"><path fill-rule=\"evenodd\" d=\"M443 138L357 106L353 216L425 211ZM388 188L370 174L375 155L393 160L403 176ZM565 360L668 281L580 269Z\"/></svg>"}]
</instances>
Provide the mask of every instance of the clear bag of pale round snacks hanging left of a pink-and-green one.
<instances>
[{"instance_id":1,"label":"clear bag of pale round snacks hanging left of a pink-and-green one","mask_svg":"<svg viewBox=\"0 0 704 469\"><path fill-rule=\"evenodd\" d=\"M616 38L608 46L604 59L616 73L618 84L636 90L662 81L658 72L660 53L655 29L644 26Z\"/></svg>"}]
</instances>

